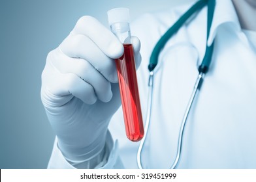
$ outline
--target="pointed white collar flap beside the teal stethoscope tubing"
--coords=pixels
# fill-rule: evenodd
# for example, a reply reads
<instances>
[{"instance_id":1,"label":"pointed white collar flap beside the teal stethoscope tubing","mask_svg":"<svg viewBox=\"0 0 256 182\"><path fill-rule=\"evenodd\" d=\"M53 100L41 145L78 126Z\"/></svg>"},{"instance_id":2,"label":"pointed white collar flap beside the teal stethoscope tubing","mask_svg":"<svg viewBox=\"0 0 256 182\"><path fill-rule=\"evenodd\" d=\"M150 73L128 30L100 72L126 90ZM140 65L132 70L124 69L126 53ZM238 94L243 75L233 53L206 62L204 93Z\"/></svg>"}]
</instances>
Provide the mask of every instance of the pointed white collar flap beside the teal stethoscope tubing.
<instances>
[{"instance_id":1,"label":"pointed white collar flap beside the teal stethoscope tubing","mask_svg":"<svg viewBox=\"0 0 256 182\"><path fill-rule=\"evenodd\" d=\"M238 16L236 15L236 10L231 0L216 0L214 18L207 42L208 45L211 45L214 41L217 30L221 25L229 25L236 31L241 30Z\"/></svg>"}]
</instances>

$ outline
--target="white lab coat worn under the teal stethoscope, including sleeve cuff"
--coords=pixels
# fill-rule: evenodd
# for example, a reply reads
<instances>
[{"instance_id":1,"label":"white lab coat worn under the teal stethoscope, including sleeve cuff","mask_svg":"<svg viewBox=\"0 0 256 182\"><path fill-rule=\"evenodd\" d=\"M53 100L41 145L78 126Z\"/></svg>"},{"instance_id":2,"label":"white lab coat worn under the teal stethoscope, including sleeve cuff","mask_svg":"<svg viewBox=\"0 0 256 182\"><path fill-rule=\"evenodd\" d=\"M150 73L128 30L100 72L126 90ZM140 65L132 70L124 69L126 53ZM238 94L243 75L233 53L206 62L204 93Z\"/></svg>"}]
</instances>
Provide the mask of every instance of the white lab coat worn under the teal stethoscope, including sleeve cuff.
<instances>
[{"instance_id":1,"label":"white lab coat worn under the teal stethoscope, including sleeve cuff","mask_svg":"<svg viewBox=\"0 0 256 182\"><path fill-rule=\"evenodd\" d=\"M148 62L157 40L191 5L145 14L131 24L141 41L137 72L142 114L146 119ZM180 124L206 47L207 8L167 42L155 73L152 122L142 162L145 168L170 168ZM254 34L255 32L251 32ZM178 168L256 168L256 53L241 30L231 0L217 0L208 44L215 38L211 68L185 126ZM254 39L255 40L255 39ZM139 143L125 136L121 108L109 125L103 168L137 168ZM113 139L112 139L113 138ZM56 147L49 168L73 168Z\"/></svg>"}]
</instances>

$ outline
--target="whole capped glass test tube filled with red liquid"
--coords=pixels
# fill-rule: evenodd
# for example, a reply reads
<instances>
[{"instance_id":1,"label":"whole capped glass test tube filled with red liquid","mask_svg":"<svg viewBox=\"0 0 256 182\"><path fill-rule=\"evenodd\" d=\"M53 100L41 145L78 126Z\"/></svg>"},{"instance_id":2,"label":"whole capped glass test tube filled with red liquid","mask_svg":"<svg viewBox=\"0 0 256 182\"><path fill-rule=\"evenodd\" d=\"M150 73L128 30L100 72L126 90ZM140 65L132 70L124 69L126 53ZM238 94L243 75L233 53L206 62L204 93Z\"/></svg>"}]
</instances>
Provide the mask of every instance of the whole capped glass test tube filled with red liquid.
<instances>
[{"instance_id":1,"label":"whole capped glass test tube filled with red liquid","mask_svg":"<svg viewBox=\"0 0 256 182\"><path fill-rule=\"evenodd\" d=\"M114 8L109 10L107 14L111 31L118 37L124 47L123 55L115 61L125 121L125 133L129 140L138 142L144 135L144 127L138 94L133 45L131 44L129 9Z\"/></svg>"}]
</instances>

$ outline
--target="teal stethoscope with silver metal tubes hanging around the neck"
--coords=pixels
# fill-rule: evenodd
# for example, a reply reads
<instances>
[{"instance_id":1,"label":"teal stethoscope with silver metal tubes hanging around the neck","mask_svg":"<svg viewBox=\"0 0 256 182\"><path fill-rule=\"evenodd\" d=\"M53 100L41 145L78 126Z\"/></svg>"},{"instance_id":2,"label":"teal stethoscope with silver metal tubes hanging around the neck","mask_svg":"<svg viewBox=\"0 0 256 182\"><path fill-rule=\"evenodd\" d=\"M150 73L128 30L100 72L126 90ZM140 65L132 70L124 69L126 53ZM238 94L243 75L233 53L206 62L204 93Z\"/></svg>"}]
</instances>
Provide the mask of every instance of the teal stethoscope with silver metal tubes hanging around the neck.
<instances>
[{"instance_id":1,"label":"teal stethoscope with silver metal tubes hanging around the neck","mask_svg":"<svg viewBox=\"0 0 256 182\"><path fill-rule=\"evenodd\" d=\"M138 147L138 153L137 153L137 164L138 168L142 169L142 162L141 162L141 152L144 146L144 142L146 140L146 136L148 134L148 127L150 125L150 120L151 120L151 113L152 113L152 100L153 100L153 76L154 76L154 69L157 66L158 62L158 57L167 43L167 41L174 35L180 27L185 23L187 19L189 19L195 12L198 10L202 9L205 5L208 5L208 14L207 14L207 40L210 34L210 28L212 25L212 19L214 16L214 8L215 8L216 1L215 0L200 0L195 3L195 5L191 6L187 12L185 12L184 15L168 29L167 32L160 38L160 40L157 42L155 45L152 55L150 57L150 64L148 65L148 70L150 71L150 77L149 77L149 92L148 92L148 107L147 107L147 114L146 114L146 123L145 123L145 131L144 131L144 138L142 138L140 142L140 146ZM180 133L178 137L178 147L177 147L177 152L176 152L176 157L175 160L170 167L171 169L176 168L178 165L178 162L180 160L180 155L182 152L182 140L183 140L183 134L184 134L184 127L185 123L187 122L187 116L189 115L189 110L191 109L191 106L193 105L193 101L195 99L195 96L197 96L198 91L200 90L200 87L202 86L202 82L204 79L204 75L208 72L210 62L212 60L212 53L214 49L214 42L212 42L212 45L207 45L206 41L206 51L204 54L204 58L202 59L202 63L200 64L198 70L199 70L199 75L197 77L197 81L195 82L195 86L193 88L193 92L191 94L191 98L189 99L189 103L187 104L187 109L185 110L184 117L182 120L182 125L180 126Z\"/></svg>"}]
</instances>

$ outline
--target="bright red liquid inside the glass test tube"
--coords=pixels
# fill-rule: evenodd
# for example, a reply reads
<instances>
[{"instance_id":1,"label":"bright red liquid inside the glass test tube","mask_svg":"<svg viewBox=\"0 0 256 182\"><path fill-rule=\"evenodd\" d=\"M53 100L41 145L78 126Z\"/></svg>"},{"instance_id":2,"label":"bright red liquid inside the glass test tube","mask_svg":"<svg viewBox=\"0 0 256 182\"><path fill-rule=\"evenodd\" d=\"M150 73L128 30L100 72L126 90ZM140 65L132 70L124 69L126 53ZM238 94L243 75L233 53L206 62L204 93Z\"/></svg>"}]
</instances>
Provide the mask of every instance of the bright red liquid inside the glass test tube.
<instances>
[{"instance_id":1,"label":"bright red liquid inside the glass test tube","mask_svg":"<svg viewBox=\"0 0 256 182\"><path fill-rule=\"evenodd\" d=\"M116 59L116 68L125 120L125 132L129 140L138 142L144 135L144 127L138 95L133 45L123 44L123 47L124 54L120 59Z\"/></svg>"}]
</instances>

